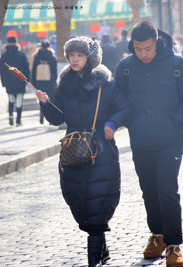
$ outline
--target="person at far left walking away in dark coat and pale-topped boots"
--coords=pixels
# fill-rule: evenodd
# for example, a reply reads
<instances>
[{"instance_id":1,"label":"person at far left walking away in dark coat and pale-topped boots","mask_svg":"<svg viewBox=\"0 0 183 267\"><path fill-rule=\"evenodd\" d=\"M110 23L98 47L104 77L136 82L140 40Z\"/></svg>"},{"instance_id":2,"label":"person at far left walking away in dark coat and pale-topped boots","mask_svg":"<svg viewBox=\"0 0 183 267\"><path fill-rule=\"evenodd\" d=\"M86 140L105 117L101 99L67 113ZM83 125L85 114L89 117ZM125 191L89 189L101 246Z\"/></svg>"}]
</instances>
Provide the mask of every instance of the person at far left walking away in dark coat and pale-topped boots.
<instances>
[{"instance_id":1,"label":"person at far left walking away in dark coat and pale-topped boots","mask_svg":"<svg viewBox=\"0 0 183 267\"><path fill-rule=\"evenodd\" d=\"M5 63L21 71L27 78L27 81L29 81L30 75L29 63L25 54L20 51L21 47L17 42L17 38L15 36L10 36L7 41L8 42L4 46L6 52L3 53L0 58L0 75L2 86L6 88L6 92L9 96L9 124L14 124L13 108L16 103L16 126L21 126L23 94L25 93L26 82L12 75Z\"/></svg>"}]
</instances>

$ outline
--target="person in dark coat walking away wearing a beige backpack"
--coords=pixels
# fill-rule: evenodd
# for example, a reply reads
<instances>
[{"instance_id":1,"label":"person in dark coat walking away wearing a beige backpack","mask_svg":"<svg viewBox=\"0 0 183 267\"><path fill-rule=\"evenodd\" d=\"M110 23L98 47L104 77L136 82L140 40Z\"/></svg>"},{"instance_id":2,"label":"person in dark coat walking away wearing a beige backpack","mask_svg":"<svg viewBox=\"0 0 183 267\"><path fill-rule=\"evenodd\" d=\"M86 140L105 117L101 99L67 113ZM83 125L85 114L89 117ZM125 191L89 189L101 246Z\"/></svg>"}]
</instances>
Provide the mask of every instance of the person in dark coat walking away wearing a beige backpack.
<instances>
[{"instance_id":1,"label":"person in dark coat walking away wearing a beige backpack","mask_svg":"<svg viewBox=\"0 0 183 267\"><path fill-rule=\"evenodd\" d=\"M50 79L45 80L45 78L40 79L36 76L37 67L41 62L45 62L49 65L50 69ZM50 47L50 41L45 39L41 42L41 47L39 48L37 54L34 56L33 68L32 68L32 76L31 83L36 89L43 90L46 92L50 100L53 100L55 94L55 86L57 79L57 58L55 55L55 51ZM44 115L42 110L40 109L40 123L43 124Z\"/></svg>"}]
</instances>

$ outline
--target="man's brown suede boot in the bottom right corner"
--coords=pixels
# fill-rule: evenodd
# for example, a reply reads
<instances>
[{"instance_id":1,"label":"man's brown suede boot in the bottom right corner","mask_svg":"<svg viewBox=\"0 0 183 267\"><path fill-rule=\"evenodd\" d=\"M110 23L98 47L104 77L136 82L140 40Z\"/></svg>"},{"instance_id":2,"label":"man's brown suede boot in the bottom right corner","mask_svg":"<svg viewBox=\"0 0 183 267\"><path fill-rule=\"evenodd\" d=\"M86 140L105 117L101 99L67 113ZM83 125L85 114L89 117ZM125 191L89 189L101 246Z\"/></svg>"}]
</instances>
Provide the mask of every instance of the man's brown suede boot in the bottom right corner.
<instances>
[{"instance_id":1,"label":"man's brown suede boot in the bottom right corner","mask_svg":"<svg viewBox=\"0 0 183 267\"><path fill-rule=\"evenodd\" d=\"M170 245L166 248L167 267L183 266L183 257L179 245Z\"/></svg>"}]
</instances>

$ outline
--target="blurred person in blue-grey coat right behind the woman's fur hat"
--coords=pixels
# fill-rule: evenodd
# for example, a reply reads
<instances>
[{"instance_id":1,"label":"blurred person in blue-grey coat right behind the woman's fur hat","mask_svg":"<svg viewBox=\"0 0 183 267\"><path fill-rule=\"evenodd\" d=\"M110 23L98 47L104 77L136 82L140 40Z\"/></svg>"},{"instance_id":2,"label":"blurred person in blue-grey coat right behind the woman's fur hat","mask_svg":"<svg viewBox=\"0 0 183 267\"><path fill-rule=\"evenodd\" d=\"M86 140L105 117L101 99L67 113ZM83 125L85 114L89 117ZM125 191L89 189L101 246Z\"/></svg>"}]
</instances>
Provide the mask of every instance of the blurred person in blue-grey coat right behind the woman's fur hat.
<instances>
[{"instance_id":1,"label":"blurred person in blue-grey coat right behind the woman's fur hat","mask_svg":"<svg viewBox=\"0 0 183 267\"><path fill-rule=\"evenodd\" d=\"M105 65L114 77L115 69L120 61L120 54L117 46L111 44L111 39L108 34L102 36L101 45L102 48L102 64Z\"/></svg>"}]
</instances>

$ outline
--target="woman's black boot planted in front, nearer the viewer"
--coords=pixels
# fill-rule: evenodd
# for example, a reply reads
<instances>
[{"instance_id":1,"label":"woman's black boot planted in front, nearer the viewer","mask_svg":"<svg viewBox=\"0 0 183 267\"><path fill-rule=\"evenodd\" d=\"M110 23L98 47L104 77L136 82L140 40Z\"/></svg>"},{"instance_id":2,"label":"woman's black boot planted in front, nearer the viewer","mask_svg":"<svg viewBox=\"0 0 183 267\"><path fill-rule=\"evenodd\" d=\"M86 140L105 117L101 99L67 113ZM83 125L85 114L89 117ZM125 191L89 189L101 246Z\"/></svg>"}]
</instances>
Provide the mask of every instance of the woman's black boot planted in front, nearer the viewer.
<instances>
[{"instance_id":1,"label":"woman's black boot planted in front, nearer the viewer","mask_svg":"<svg viewBox=\"0 0 183 267\"><path fill-rule=\"evenodd\" d=\"M88 236L88 267L102 267L103 246L102 236Z\"/></svg>"}]
</instances>

